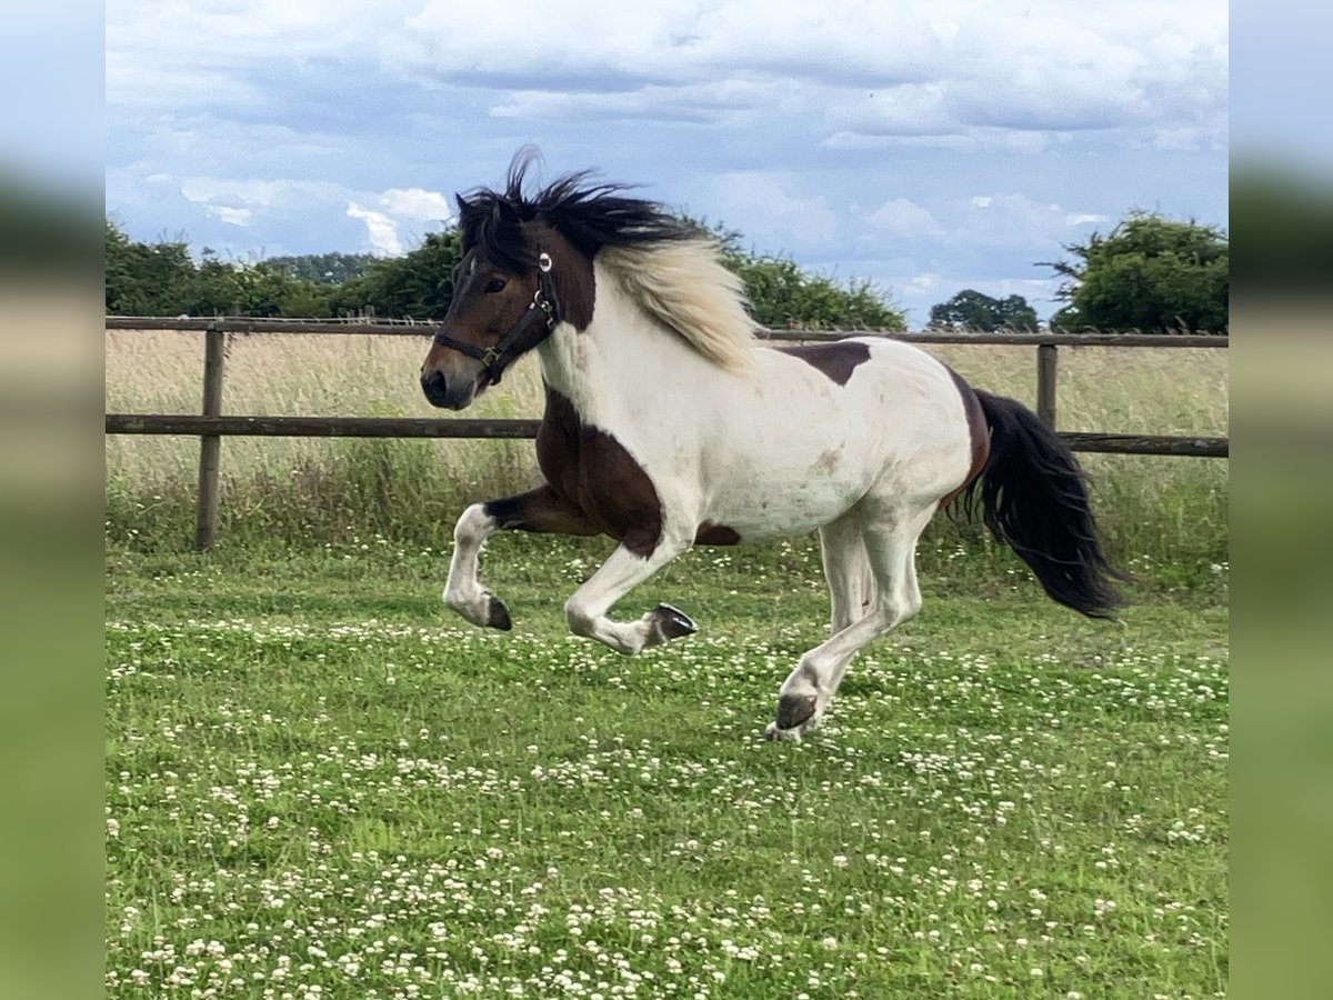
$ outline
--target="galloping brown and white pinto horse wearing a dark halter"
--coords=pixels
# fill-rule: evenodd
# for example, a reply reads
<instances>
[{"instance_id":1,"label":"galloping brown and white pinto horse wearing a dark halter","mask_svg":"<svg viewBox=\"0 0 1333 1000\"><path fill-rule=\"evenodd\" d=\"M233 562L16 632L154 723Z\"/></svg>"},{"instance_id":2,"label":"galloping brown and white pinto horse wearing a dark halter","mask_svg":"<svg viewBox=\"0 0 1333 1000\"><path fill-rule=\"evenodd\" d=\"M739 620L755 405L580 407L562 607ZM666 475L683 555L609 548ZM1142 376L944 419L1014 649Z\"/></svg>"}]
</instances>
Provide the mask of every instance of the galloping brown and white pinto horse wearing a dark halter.
<instances>
[{"instance_id":1,"label":"galloping brown and white pinto horse wearing a dark halter","mask_svg":"<svg viewBox=\"0 0 1333 1000\"><path fill-rule=\"evenodd\" d=\"M460 411L535 352L545 481L463 512L448 607L512 627L479 580L496 531L607 535L619 545L565 617L575 635L633 655L697 629L669 604L609 617L692 545L817 531L830 636L798 659L765 731L793 740L824 716L857 651L920 611L917 539L954 501L980 504L1053 600L1114 617L1124 577L1102 551L1084 472L1032 411L901 341L774 347L697 228L592 171L528 193L531 163L515 157L504 191L455 196L463 253L421 389Z\"/></svg>"}]
</instances>

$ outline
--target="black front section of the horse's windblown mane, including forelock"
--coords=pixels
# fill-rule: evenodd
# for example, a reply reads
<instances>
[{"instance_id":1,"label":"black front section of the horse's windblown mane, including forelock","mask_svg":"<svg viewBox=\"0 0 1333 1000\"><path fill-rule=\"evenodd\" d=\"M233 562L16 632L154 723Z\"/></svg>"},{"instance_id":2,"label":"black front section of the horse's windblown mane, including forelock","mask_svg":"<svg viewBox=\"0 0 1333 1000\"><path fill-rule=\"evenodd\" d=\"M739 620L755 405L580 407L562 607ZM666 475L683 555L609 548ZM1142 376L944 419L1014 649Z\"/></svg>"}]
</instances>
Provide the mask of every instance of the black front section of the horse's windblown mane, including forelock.
<instances>
[{"instance_id":1,"label":"black front section of the horse's windblown mane, including forelock","mask_svg":"<svg viewBox=\"0 0 1333 1000\"><path fill-rule=\"evenodd\" d=\"M569 173L532 196L523 192L528 168L537 159L521 149L509 164L504 193L477 188L456 195L463 252L480 247L493 264L513 272L536 265L537 249L524 223L545 223L589 260L603 247L632 247L682 240L698 233L655 201L625 197L625 184L593 183L592 171Z\"/></svg>"}]
</instances>

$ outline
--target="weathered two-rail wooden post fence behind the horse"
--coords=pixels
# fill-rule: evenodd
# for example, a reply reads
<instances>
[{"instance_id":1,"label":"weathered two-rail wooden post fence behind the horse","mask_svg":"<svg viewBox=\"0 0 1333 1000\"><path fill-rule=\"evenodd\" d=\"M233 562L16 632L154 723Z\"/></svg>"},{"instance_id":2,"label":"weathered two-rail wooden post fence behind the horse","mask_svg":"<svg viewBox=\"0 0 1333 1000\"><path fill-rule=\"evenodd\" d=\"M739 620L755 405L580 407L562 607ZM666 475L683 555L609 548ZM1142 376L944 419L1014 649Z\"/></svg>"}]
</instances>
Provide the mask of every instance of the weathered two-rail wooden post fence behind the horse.
<instances>
[{"instance_id":1,"label":"weathered two-rail wooden post fence behind the horse","mask_svg":"<svg viewBox=\"0 0 1333 1000\"><path fill-rule=\"evenodd\" d=\"M321 417L321 416L232 416L223 413L223 368L227 336L235 333L328 333L408 336L425 339L435 324L340 323L272 319L161 319L108 316L107 329L167 329L204 333L203 412L107 413L108 435L189 435L199 436L199 517L195 544L212 548L217 537L217 496L221 467L221 440L231 435L257 437L536 437L537 420L455 420L432 417ZM841 331L761 331L773 341L840 340L864 333ZM1221 348L1229 337L1156 336L1138 333L892 333L884 335L910 344L1021 344L1037 349L1037 416L1056 427L1056 379L1061 347L1141 347L1141 348ZM1058 432L1073 451L1117 455L1181 455L1228 457L1226 437L1185 437L1173 435L1117 435Z\"/></svg>"}]
</instances>

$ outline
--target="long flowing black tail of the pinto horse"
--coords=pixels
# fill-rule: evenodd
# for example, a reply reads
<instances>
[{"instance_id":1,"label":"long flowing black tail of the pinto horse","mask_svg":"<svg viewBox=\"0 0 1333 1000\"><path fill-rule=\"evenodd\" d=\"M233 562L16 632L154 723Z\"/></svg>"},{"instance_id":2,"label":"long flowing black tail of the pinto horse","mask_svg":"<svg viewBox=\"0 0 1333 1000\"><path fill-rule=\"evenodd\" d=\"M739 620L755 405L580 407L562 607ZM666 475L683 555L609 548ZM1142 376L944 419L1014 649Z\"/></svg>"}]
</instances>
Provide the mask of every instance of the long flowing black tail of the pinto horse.
<instances>
[{"instance_id":1,"label":"long flowing black tail of the pinto horse","mask_svg":"<svg viewBox=\"0 0 1333 1000\"><path fill-rule=\"evenodd\" d=\"M970 508L980 488L985 525L1053 600L1089 617L1114 617L1125 599L1113 580L1126 577L1101 551L1078 460L1021 403L974 392L990 428L990 455L964 503Z\"/></svg>"}]
</instances>

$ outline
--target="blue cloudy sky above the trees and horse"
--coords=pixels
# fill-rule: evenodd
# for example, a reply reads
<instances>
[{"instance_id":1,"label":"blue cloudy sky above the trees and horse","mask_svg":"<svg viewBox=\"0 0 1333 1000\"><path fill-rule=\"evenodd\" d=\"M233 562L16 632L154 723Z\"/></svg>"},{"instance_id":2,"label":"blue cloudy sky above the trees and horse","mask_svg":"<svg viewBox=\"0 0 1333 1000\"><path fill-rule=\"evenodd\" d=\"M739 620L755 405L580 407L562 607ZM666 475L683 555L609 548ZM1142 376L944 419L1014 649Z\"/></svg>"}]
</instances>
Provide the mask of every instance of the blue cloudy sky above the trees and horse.
<instances>
[{"instance_id":1,"label":"blue cloudy sky above the trees and horse","mask_svg":"<svg viewBox=\"0 0 1333 1000\"><path fill-rule=\"evenodd\" d=\"M399 255L455 192L605 180L924 325L1134 209L1228 227L1221 0L109 0L105 207L197 255Z\"/></svg>"}]
</instances>

